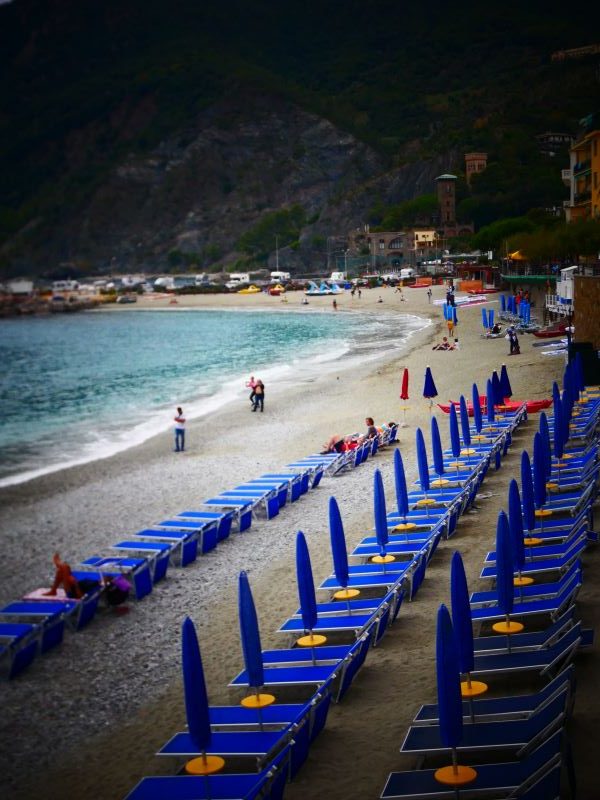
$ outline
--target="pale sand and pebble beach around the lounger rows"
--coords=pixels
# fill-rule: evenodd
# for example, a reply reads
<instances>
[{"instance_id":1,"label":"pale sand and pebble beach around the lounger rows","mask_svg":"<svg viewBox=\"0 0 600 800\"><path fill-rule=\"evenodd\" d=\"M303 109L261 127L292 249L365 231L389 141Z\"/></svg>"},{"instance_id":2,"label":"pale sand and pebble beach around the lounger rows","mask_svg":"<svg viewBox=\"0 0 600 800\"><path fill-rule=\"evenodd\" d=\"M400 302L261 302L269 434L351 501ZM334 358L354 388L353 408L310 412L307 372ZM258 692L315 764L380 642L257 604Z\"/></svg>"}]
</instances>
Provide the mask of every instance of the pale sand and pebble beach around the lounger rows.
<instances>
[{"instance_id":1,"label":"pale sand and pebble beach around the lounger rows","mask_svg":"<svg viewBox=\"0 0 600 800\"><path fill-rule=\"evenodd\" d=\"M433 287L434 300L445 294ZM382 297L383 303L378 303ZM364 290L361 300L338 299L339 311L409 313L432 324L416 333L404 352L370 362L364 370L332 364L326 376L293 390L269 386L264 414L226 406L210 418L188 425L188 449L172 452L171 434L108 459L53 473L0 490L3 560L0 600L9 602L36 586L48 585L51 557L58 550L72 564L105 550L143 527L167 519L202 499L296 457L316 452L332 433L364 428L365 416L376 424L401 420L402 369L410 370L408 427L399 445L407 476L416 477L415 430L429 443L429 406L421 397L425 366L431 365L442 401L470 395L477 382L507 362L516 399L550 395L564 367L562 357L545 357L521 337L521 355L507 358L503 339L483 340L479 306L459 309L456 334L461 349L432 352L445 330L441 308L429 305L425 289L405 289L406 302L393 289ZM499 312L498 295L488 307ZM190 296L178 307L239 306L276 309L298 307L300 293L288 303L263 295ZM330 298L311 298L311 308L331 309ZM143 307L168 308L166 298L142 298ZM131 308L131 307L126 307ZM111 309L107 313L119 313ZM248 365L248 371L252 365ZM448 442L447 416L437 409L442 439ZM388 773L414 761L398 752L419 705L435 700L434 624L440 602L448 602L449 563L459 549L473 590L485 553L492 549L498 510L506 506L508 484L518 474L521 450L529 449L537 430L532 415L514 438L499 472L492 472L480 500L440 546L416 600L406 603L381 645L372 650L344 701L331 709L327 725L311 748L308 762L288 785L286 798L329 800L377 798ZM360 469L324 479L274 520L233 534L212 553L185 569L170 568L166 581L130 612L103 612L85 630L66 635L59 648L38 658L17 680L0 686L0 792L25 800L43 796L63 800L77 794L118 800L144 775L172 774L168 759L154 756L185 725L180 680L180 629L186 615L196 623L210 700L235 703L240 694L227 683L241 669L237 622L237 576L248 572L261 625L263 647L287 639L275 633L297 607L294 546L304 531L315 583L331 572L327 503L340 505L351 549L372 528L373 471L382 471L388 507L392 507L392 450L381 452ZM585 582L578 600L586 625L599 616L600 595L592 567L594 550L584 554ZM577 658L578 697L569 730L579 775L579 791L592 798L593 732L600 718L596 648ZM516 684L510 684L511 689ZM508 688L496 682L494 690ZM537 686L537 684L536 684Z\"/></svg>"}]
</instances>

